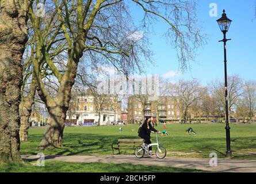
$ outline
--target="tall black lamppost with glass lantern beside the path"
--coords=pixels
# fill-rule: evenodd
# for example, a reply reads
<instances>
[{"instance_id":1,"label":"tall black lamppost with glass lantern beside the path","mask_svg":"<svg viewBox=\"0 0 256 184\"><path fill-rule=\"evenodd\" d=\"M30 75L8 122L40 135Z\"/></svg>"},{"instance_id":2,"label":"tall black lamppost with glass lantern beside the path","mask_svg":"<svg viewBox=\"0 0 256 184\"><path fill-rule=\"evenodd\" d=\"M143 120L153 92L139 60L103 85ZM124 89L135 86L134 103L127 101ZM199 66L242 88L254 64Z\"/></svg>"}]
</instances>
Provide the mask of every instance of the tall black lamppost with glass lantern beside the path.
<instances>
[{"instance_id":1,"label":"tall black lamppost with glass lantern beside the path","mask_svg":"<svg viewBox=\"0 0 256 184\"><path fill-rule=\"evenodd\" d=\"M227 14L225 13L225 10L223 10L222 17L217 20L221 32L223 32L224 38L223 41L224 43L224 70L225 70L225 101L226 101L226 142L227 142L227 152L226 152L226 157L231 158L232 152L230 148L230 125L228 123L228 91L227 91L227 53L226 53L226 43L228 40L231 39L226 39L226 33L228 32L228 28L230 28L231 20L227 18Z\"/></svg>"}]
</instances>

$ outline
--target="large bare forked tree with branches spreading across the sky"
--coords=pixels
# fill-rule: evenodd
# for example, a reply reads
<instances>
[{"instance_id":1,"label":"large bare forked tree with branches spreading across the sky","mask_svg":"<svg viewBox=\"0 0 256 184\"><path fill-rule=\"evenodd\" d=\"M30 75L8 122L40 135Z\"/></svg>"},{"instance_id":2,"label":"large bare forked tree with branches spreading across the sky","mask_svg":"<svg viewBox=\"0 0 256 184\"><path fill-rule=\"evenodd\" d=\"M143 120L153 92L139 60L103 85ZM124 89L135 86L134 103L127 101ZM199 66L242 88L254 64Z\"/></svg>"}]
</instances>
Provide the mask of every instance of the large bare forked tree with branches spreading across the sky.
<instances>
[{"instance_id":1,"label":"large bare forked tree with branches spreading across the sky","mask_svg":"<svg viewBox=\"0 0 256 184\"><path fill-rule=\"evenodd\" d=\"M133 25L129 15L129 3L135 3L145 14L142 25ZM80 59L84 56L93 64L111 64L128 75L142 71L143 58L151 61L146 32L152 21L162 20L170 26L166 37L178 50L181 68L194 59L194 52L204 37L196 20L196 3L193 1L49 1L48 7L54 16L48 16L48 24L41 24L30 8L29 17L36 40L33 59L37 91L49 112L49 122L41 148L52 145L62 147L64 120L71 98L71 89L77 76ZM47 15L47 14L46 14ZM144 31L143 36L138 33ZM65 40L63 55L64 70L60 71L49 57L51 48L45 47L47 40L56 43ZM44 59L41 61L41 59ZM58 94L52 98L41 81L41 66L47 65L59 82Z\"/></svg>"}]
</instances>

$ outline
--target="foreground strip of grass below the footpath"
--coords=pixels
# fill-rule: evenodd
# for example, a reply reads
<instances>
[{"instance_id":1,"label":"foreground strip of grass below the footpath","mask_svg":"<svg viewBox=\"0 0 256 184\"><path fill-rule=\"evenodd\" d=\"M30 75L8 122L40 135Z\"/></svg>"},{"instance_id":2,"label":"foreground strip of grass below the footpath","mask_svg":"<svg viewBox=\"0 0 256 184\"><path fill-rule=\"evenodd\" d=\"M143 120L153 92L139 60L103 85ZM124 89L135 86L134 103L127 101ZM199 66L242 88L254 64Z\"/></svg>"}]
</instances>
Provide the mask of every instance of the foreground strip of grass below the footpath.
<instances>
[{"instance_id":1,"label":"foreground strip of grass below the footpath","mask_svg":"<svg viewBox=\"0 0 256 184\"><path fill-rule=\"evenodd\" d=\"M0 173L202 173L205 171L133 164L75 163L45 161L45 166L36 162L0 164Z\"/></svg>"}]
</instances>

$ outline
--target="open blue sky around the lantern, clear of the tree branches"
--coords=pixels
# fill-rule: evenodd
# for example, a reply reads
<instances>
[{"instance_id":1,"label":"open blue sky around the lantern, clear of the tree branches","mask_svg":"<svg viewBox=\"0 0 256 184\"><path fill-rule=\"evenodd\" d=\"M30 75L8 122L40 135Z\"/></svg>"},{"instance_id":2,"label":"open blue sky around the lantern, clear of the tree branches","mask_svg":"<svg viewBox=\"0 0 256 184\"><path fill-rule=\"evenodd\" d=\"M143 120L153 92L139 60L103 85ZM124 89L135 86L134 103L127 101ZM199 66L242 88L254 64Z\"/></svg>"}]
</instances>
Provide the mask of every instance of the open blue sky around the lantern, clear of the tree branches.
<instances>
[{"instance_id":1,"label":"open blue sky around the lantern, clear of the tree branches","mask_svg":"<svg viewBox=\"0 0 256 184\"><path fill-rule=\"evenodd\" d=\"M210 17L209 5L217 4L217 17ZM232 39L227 43L227 72L228 75L238 74L243 79L255 79L256 70L256 19L254 0L232 1L232 0L198 0L198 19L203 22L204 33L208 35L207 44L198 49L197 63L190 63L191 70L179 74L171 81L178 79L197 78L202 85L207 85L213 79L224 79L223 43L218 41L223 39L216 20L221 17L222 10L225 9L228 18L232 20L227 38ZM132 14L138 18L137 9L132 9ZM155 66L148 67L147 73L167 76L178 71L178 59L175 49L166 44L163 33L168 25L159 21L154 25L155 35L152 35L150 42L154 51Z\"/></svg>"}]
</instances>

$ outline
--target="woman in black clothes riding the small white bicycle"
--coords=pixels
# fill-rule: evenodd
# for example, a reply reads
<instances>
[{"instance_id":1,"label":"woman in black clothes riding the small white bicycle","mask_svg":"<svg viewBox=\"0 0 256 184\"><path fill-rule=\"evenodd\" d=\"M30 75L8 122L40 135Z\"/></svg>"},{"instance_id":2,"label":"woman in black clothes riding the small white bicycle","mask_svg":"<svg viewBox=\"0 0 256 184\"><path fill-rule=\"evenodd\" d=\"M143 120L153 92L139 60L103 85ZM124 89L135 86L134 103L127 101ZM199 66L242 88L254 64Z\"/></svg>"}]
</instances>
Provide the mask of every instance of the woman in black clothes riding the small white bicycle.
<instances>
[{"instance_id":1,"label":"woman in black clothes riding the small white bicycle","mask_svg":"<svg viewBox=\"0 0 256 184\"><path fill-rule=\"evenodd\" d=\"M142 124L142 127L140 128L139 131L139 137L144 139L145 144L151 144L150 141L150 133L158 132L156 129L154 129L151 125L151 118L146 118L144 123ZM150 155L154 155L154 153L151 151L152 147L149 147L148 150L150 150Z\"/></svg>"}]
</instances>

